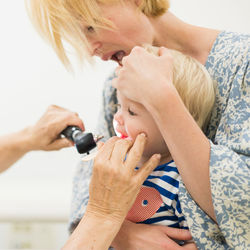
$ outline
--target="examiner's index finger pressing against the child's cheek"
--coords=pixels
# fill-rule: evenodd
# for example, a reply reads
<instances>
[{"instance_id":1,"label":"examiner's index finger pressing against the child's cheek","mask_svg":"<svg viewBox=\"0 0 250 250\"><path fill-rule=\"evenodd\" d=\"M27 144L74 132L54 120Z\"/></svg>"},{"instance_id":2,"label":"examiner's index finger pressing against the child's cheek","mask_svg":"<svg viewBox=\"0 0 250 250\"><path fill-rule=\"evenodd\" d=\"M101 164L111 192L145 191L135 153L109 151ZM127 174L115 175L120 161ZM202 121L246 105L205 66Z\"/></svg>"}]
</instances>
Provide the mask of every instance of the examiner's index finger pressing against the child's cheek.
<instances>
[{"instance_id":1,"label":"examiner's index finger pressing against the child's cheek","mask_svg":"<svg viewBox=\"0 0 250 250\"><path fill-rule=\"evenodd\" d=\"M125 162L126 167L129 167L130 170L134 170L135 167L137 166L137 164L139 163L142 154L143 154L143 150L146 144L146 135L145 134L139 134L134 142L134 145L132 146L132 148L130 149L128 155L127 155L127 159Z\"/></svg>"}]
</instances>

